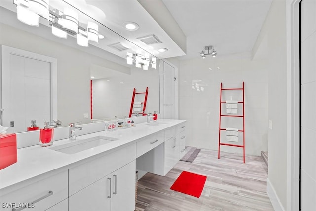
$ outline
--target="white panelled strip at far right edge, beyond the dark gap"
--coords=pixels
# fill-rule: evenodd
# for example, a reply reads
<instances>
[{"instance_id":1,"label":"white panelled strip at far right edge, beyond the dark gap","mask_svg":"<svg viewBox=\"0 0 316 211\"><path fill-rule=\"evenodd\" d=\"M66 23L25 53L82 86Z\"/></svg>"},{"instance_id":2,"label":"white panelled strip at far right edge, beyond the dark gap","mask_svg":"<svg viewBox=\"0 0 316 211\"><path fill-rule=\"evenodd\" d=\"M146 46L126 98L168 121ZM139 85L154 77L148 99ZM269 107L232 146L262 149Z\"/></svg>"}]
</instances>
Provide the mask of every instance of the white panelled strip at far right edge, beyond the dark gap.
<instances>
[{"instance_id":1,"label":"white panelled strip at far right edge, beyond the dark gap","mask_svg":"<svg viewBox=\"0 0 316 211\"><path fill-rule=\"evenodd\" d=\"M316 210L316 1L301 2L301 210Z\"/></svg>"}]
</instances>

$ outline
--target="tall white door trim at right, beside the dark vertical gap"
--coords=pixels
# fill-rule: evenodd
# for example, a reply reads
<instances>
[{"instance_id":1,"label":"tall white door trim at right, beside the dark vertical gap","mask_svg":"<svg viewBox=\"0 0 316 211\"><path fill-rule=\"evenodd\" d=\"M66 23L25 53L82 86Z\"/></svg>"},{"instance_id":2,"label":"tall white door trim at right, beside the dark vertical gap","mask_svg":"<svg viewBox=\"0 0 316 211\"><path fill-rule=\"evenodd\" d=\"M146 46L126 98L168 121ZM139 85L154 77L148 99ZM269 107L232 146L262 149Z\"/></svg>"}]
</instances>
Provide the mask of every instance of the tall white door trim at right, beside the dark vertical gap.
<instances>
[{"instance_id":1,"label":"tall white door trim at right, beside the dark vertical gap","mask_svg":"<svg viewBox=\"0 0 316 211\"><path fill-rule=\"evenodd\" d=\"M300 210L300 1L286 1L288 37L286 210Z\"/></svg>"}]
</instances>

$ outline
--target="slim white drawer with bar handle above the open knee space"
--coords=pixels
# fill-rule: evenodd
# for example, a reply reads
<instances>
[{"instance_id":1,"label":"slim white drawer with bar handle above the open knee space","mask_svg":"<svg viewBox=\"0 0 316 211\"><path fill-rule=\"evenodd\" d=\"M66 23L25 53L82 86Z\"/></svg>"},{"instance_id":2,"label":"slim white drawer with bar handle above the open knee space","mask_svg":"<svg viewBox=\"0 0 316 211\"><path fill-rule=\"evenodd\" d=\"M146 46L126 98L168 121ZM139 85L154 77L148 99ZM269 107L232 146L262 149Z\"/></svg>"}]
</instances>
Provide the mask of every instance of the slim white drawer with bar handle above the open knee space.
<instances>
[{"instance_id":1,"label":"slim white drawer with bar handle above the open knee space","mask_svg":"<svg viewBox=\"0 0 316 211\"><path fill-rule=\"evenodd\" d=\"M154 149L164 142L164 131L136 143L136 158L144 155L146 152Z\"/></svg>"}]
</instances>

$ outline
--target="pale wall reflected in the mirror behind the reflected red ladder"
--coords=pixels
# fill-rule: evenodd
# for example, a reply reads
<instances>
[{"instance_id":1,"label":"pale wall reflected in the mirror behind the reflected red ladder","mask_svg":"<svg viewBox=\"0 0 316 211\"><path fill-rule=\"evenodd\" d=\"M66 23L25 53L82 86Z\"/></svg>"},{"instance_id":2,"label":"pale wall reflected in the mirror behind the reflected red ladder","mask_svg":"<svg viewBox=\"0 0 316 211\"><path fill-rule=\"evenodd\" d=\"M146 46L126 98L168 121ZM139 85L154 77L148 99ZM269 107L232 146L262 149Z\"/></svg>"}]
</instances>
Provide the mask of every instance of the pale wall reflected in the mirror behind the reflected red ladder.
<instances>
[{"instance_id":1,"label":"pale wall reflected in the mirror behind the reflected red ladder","mask_svg":"<svg viewBox=\"0 0 316 211\"><path fill-rule=\"evenodd\" d=\"M150 68L147 71L133 67L130 75L118 73L110 78L93 80L93 119L128 117L134 88L136 92L145 92L146 87L148 87L146 113L159 111L158 66L157 70ZM144 99L145 94L135 95L135 102L144 102Z\"/></svg>"}]
</instances>

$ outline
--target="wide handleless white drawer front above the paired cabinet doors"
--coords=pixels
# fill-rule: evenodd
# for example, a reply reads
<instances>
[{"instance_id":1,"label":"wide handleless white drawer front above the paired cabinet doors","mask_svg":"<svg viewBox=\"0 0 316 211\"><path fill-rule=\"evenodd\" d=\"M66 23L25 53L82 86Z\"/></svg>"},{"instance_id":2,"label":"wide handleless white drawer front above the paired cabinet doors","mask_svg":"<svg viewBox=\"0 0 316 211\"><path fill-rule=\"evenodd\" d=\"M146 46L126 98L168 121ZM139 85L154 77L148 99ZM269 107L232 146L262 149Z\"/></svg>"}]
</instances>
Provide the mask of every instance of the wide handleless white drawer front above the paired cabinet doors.
<instances>
[{"instance_id":1,"label":"wide handleless white drawer front above the paired cabinet doors","mask_svg":"<svg viewBox=\"0 0 316 211\"><path fill-rule=\"evenodd\" d=\"M69 169L69 196L136 159L136 144Z\"/></svg>"}]
</instances>

